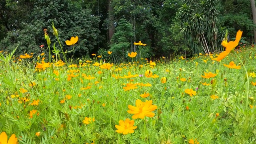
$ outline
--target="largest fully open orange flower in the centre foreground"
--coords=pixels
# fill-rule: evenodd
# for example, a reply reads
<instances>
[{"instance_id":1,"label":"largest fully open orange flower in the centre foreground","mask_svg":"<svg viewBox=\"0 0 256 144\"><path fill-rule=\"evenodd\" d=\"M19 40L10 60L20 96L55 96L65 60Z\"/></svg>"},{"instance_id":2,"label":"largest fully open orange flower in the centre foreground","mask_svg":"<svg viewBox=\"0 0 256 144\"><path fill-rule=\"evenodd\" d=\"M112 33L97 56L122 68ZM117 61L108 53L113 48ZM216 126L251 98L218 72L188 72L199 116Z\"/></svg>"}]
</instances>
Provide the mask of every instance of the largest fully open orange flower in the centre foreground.
<instances>
[{"instance_id":1,"label":"largest fully open orange flower in the centre foreground","mask_svg":"<svg viewBox=\"0 0 256 144\"><path fill-rule=\"evenodd\" d=\"M143 119L145 116L153 117L155 115L152 111L156 110L157 106L152 105L152 100L146 100L146 102L136 100L135 104L136 106L128 105L130 110L127 111L129 114L134 114L133 119Z\"/></svg>"}]
</instances>

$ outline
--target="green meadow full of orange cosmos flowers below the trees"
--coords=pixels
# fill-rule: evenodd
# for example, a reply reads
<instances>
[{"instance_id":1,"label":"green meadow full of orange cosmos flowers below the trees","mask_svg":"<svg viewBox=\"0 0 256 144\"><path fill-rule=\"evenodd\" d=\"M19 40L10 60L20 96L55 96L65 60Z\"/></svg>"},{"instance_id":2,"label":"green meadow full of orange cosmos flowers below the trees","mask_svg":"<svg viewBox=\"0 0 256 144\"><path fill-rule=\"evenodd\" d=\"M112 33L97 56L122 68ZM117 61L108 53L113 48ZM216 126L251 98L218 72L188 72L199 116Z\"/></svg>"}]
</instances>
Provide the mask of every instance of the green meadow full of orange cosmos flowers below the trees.
<instances>
[{"instance_id":1,"label":"green meadow full of orange cosmos flowers below the trees","mask_svg":"<svg viewBox=\"0 0 256 144\"><path fill-rule=\"evenodd\" d=\"M220 54L172 62L2 52L0 143L255 143L256 49L233 50L238 35Z\"/></svg>"}]
</instances>

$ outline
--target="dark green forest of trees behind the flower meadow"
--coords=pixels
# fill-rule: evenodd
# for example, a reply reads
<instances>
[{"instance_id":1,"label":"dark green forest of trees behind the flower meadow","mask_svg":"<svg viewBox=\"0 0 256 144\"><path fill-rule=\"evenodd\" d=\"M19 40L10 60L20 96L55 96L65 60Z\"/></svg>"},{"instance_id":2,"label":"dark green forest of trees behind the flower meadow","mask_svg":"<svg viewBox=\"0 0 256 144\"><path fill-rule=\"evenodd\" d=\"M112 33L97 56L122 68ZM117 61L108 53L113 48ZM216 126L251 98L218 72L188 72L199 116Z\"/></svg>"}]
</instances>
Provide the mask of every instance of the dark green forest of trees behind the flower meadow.
<instances>
[{"instance_id":1,"label":"dark green forest of trees behind the flower meadow","mask_svg":"<svg viewBox=\"0 0 256 144\"><path fill-rule=\"evenodd\" d=\"M0 50L47 52L45 28L59 47L52 23L64 51L72 49L65 40L79 37L68 58L107 58L111 51L126 59L139 41L147 44L142 58L189 57L222 50L226 31L232 40L237 30L240 46L256 42L255 0L0 0Z\"/></svg>"}]
</instances>

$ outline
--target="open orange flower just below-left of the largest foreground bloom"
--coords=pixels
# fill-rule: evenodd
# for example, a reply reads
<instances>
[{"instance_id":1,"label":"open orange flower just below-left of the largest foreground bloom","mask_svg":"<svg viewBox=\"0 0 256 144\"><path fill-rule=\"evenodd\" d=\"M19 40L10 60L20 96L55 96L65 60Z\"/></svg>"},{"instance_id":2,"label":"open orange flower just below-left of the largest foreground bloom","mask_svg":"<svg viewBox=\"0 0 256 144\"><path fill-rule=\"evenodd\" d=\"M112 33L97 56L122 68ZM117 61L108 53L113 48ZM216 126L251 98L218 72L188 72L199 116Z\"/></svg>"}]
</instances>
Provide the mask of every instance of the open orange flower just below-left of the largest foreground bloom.
<instances>
[{"instance_id":1,"label":"open orange flower just below-left of the largest foreground bloom","mask_svg":"<svg viewBox=\"0 0 256 144\"><path fill-rule=\"evenodd\" d=\"M122 133L122 134L128 134L133 133L134 129L137 128L137 126L134 125L134 120L130 120L129 118L126 118L126 120L119 120L119 125L116 125L115 127L118 129L116 132Z\"/></svg>"}]
</instances>

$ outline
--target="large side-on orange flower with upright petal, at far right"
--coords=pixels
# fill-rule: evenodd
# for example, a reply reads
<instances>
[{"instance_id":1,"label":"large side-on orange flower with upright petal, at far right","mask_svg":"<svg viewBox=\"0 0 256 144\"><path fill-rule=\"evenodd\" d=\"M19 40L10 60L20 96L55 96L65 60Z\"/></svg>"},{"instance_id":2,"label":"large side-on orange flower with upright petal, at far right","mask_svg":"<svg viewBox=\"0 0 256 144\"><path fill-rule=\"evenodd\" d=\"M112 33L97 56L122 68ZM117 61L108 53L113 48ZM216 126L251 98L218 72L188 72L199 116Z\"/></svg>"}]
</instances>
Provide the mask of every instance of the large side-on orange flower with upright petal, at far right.
<instances>
[{"instance_id":1,"label":"large side-on orange flower with upright petal, at far right","mask_svg":"<svg viewBox=\"0 0 256 144\"><path fill-rule=\"evenodd\" d=\"M236 40L235 41L230 41L227 42L226 40L222 41L222 46L224 46L226 48L226 50L222 53L220 53L218 55L217 58L212 58L212 60L216 60L216 61L220 61L223 58L225 58L232 50L234 50L234 48L238 45L241 37L242 37L242 31L238 30L238 32L236 33Z\"/></svg>"}]
</instances>

